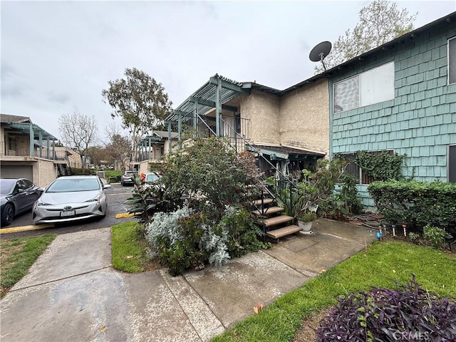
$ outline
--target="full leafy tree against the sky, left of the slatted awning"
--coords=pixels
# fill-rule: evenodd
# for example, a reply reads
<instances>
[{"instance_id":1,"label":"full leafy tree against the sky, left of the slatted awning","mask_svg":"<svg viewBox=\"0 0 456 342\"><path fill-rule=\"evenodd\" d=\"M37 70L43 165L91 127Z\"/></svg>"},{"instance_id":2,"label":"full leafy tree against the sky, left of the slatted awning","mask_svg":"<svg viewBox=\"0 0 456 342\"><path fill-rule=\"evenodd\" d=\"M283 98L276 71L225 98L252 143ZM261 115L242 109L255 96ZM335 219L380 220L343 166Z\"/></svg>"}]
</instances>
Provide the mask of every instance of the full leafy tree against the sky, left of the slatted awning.
<instances>
[{"instance_id":1,"label":"full leafy tree against the sky, left of the slatted awning","mask_svg":"<svg viewBox=\"0 0 456 342\"><path fill-rule=\"evenodd\" d=\"M101 92L104 102L113 108L111 116L122 118L133 142L133 160L136 160L140 138L162 123L171 111L162 83L157 83L144 71L126 68L125 78L108 82L108 89Z\"/></svg>"}]
</instances>

